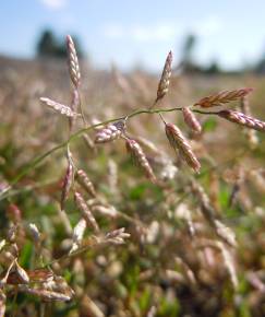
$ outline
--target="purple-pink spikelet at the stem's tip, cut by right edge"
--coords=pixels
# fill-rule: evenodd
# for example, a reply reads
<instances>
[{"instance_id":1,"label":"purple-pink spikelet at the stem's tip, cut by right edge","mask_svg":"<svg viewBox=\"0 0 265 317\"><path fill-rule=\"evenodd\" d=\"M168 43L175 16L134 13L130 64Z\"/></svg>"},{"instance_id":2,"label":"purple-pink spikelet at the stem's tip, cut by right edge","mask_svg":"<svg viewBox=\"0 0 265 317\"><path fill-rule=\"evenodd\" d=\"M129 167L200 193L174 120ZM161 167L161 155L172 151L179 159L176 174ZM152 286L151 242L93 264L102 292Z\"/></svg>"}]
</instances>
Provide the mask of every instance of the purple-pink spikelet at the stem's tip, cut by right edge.
<instances>
[{"instance_id":1,"label":"purple-pink spikelet at the stem's tip, cut by right edge","mask_svg":"<svg viewBox=\"0 0 265 317\"><path fill-rule=\"evenodd\" d=\"M254 130L262 131L262 132L265 131L265 122L264 121L261 121L256 118L246 116L242 113L226 109L226 110L218 111L217 115L219 117L222 117L222 118L231 121L231 122L244 126L246 128L254 129Z\"/></svg>"}]
</instances>

